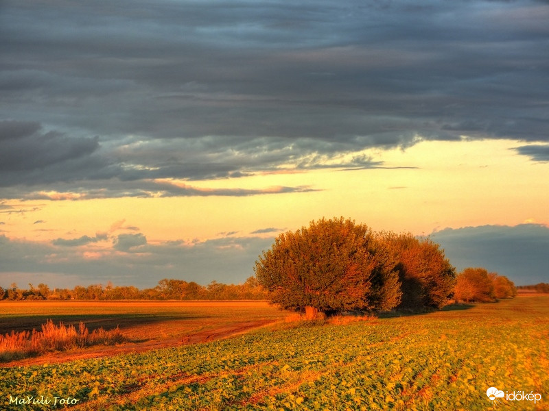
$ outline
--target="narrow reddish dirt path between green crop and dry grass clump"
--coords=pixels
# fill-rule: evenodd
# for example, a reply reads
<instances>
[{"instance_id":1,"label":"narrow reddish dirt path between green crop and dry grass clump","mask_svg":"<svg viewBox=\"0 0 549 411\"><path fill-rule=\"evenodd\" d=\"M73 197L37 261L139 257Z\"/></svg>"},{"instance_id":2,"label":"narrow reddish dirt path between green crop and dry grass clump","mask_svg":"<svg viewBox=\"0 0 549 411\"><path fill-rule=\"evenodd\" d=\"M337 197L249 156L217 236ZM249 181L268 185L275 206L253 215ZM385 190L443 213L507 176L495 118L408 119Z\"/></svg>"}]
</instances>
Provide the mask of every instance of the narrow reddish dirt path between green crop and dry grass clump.
<instances>
[{"instance_id":1,"label":"narrow reddish dirt path between green crop and dry grass clump","mask_svg":"<svg viewBox=\"0 0 549 411\"><path fill-rule=\"evenodd\" d=\"M191 345L200 343L209 343L214 340L222 340L224 338L230 338L239 334L244 334L251 329L264 327L265 325L274 323L273 320L261 320L261 321L246 321L242 323L234 323L231 325L224 325L213 329L207 329L201 332L196 332L183 336L183 338L169 338L161 340L147 340L140 343L124 343L120 345L110 346L95 346L85 349L78 349L69 352L54 352L47 353L44 356L25 358L23 360L17 360L12 362L6 362L0 364L3 367L11 366L27 366L27 365L42 365L52 364L58 362L68 362L72 360L82 360L85 358L100 358L117 356L125 353L141 353L143 351L149 351L152 349L161 349L167 347L176 347L178 345Z\"/></svg>"}]
</instances>

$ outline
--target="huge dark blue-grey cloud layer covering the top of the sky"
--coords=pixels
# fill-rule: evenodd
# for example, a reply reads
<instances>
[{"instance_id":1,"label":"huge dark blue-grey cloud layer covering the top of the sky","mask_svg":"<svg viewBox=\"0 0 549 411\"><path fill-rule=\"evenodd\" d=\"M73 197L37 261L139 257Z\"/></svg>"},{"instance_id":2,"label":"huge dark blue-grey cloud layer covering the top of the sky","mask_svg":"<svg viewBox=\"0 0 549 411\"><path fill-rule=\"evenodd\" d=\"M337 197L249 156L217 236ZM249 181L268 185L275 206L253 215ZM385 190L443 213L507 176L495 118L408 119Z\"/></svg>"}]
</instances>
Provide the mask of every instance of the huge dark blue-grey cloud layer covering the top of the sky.
<instances>
[{"instance_id":1,"label":"huge dark blue-grey cloud layer covering the top of the sky","mask_svg":"<svg viewBox=\"0 0 549 411\"><path fill-rule=\"evenodd\" d=\"M528 0L3 1L0 184L117 197L422 139L544 143L547 21Z\"/></svg>"}]
</instances>

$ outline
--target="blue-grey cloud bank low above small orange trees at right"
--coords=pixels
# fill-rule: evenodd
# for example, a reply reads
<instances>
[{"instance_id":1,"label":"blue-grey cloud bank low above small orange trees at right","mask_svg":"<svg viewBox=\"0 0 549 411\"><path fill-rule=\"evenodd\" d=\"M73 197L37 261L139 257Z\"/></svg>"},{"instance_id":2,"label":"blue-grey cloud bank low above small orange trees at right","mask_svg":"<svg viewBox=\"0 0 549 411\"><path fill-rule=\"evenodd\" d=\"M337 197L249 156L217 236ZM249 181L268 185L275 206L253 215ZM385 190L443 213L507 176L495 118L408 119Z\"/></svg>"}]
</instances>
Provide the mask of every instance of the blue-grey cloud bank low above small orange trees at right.
<instances>
[{"instance_id":1,"label":"blue-grey cloud bank low above small orange trees at right","mask_svg":"<svg viewBox=\"0 0 549 411\"><path fill-rule=\"evenodd\" d=\"M539 224L484 225L443 229L432 239L458 271L484 267L517 285L548 282L549 227Z\"/></svg>"}]
</instances>

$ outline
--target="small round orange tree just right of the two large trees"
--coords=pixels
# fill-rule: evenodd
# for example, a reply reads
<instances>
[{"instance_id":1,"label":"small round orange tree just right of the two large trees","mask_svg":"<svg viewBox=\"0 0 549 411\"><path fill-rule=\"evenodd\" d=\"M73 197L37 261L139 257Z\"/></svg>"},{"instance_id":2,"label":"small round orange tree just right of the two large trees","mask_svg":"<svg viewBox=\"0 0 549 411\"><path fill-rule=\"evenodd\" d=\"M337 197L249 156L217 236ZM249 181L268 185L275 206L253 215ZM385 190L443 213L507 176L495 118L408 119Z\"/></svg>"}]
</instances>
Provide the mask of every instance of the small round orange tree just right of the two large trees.
<instances>
[{"instance_id":1,"label":"small round orange tree just right of the two large trees","mask_svg":"<svg viewBox=\"0 0 549 411\"><path fill-rule=\"evenodd\" d=\"M463 270L456 279L454 296L461 301L493 301L493 281L488 271L482 268Z\"/></svg>"}]
</instances>

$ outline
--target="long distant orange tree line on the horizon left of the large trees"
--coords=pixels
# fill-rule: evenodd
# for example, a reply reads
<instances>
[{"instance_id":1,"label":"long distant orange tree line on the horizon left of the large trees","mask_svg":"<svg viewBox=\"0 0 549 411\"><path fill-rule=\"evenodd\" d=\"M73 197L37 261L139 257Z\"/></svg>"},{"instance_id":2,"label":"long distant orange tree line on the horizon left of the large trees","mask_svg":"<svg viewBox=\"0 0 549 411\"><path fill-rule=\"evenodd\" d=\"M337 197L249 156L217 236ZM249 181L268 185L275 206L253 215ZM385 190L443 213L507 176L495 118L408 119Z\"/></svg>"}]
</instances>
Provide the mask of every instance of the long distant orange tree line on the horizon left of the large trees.
<instances>
[{"instance_id":1,"label":"long distant orange tree line on the horizon left of the large trees","mask_svg":"<svg viewBox=\"0 0 549 411\"><path fill-rule=\"evenodd\" d=\"M211 282L201 286L196 282L186 282L182 279L161 279L154 288L140 290L135 286L113 286L110 282L92 284L89 286L75 286L69 288L54 288L51 290L46 284L22 289L17 284L9 288L0 288L0 299L8 300L263 300L266 292L259 285L255 277L246 279L244 284L222 284Z\"/></svg>"}]
</instances>

